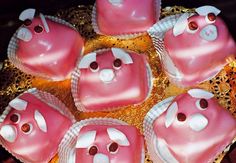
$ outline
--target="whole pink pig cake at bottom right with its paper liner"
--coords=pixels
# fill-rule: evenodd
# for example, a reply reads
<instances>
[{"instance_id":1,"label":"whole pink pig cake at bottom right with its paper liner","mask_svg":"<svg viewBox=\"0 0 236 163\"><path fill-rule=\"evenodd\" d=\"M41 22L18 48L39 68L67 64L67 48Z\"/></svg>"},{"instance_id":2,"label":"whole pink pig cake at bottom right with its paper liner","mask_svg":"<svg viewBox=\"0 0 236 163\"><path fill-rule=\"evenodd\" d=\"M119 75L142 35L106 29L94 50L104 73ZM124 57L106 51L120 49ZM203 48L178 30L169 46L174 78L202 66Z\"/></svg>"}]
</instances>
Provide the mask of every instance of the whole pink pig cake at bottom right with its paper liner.
<instances>
[{"instance_id":1,"label":"whole pink pig cake at bottom right with its paper liner","mask_svg":"<svg viewBox=\"0 0 236 163\"><path fill-rule=\"evenodd\" d=\"M202 89L191 89L155 105L144 120L154 162L213 162L236 138L236 120Z\"/></svg>"}]
</instances>

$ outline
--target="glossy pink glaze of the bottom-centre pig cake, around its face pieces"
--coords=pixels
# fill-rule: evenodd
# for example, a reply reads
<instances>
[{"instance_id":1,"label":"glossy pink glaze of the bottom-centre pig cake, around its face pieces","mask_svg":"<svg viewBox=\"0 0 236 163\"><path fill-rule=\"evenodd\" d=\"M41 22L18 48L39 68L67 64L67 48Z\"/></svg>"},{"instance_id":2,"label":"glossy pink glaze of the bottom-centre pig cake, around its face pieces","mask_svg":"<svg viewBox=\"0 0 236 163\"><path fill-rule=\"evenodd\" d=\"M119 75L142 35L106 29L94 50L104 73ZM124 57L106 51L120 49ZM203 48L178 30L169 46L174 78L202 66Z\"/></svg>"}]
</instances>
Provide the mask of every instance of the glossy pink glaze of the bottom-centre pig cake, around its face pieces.
<instances>
[{"instance_id":1,"label":"glossy pink glaze of the bottom-centre pig cake, around its face pieces","mask_svg":"<svg viewBox=\"0 0 236 163\"><path fill-rule=\"evenodd\" d=\"M120 146L116 153L110 153L108 151L108 146L113 143L107 134L107 128L115 128L126 135L130 143L129 146ZM96 145L98 148L98 153L102 153L109 158L109 163L141 163L144 159L142 157L142 152L144 150L144 139L139 131L133 126L126 125L88 125L81 129L80 134L86 133L88 131L96 131L96 139L91 145ZM77 148L76 149L76 163L93 163L94 156L89 155L89 149L87 148Z\"/></svg>"}]
</instances>

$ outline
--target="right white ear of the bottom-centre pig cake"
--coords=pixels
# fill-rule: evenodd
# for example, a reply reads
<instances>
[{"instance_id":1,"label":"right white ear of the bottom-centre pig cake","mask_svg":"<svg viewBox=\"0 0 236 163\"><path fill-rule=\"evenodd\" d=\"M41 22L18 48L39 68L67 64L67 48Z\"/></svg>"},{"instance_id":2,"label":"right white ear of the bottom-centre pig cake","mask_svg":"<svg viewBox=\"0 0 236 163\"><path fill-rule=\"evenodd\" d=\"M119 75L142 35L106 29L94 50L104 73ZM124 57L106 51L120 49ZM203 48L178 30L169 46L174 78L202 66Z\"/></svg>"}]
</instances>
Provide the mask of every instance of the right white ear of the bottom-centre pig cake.
<instances>
[{"instance_id":1,"label":"right white ear of the bottom-centre pig cake","mask_svg":"<svg viewBox=\"0 0 236 163\"><path fill-rule=\"evenodd\" d=\"M107 133L108 133L109 138L112 141L119 144L120 146L129 146L130 145L129 140L127 139L125 134L122 133L121 131L119 131L115 128L108 128Z\"/></svg>"}]
</instances>

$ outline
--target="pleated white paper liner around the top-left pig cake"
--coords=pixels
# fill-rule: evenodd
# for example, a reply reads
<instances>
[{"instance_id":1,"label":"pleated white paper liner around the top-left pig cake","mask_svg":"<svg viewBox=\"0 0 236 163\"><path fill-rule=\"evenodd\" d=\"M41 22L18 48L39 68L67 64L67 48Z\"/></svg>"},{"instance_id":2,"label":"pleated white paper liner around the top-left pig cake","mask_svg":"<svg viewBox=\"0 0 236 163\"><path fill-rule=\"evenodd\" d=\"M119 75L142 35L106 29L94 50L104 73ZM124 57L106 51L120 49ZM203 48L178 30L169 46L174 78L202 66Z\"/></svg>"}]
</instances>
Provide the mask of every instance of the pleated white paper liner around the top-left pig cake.
<instances>
[{"instance_id":1,"label":"pleated white paper liner around the top-left pig cake","mask_svg":"<svg viewBox=\"0 0 236 163\"><path fill-rule=\"evenodd\" d=\"M60 18L57 18L57 17L54 17L54 16L48 16L48 15L45 15L45 18L47 18L51 21L54 21L56 23L66 25L66 26L76 30L76 28L73 25L71 25L70 23L68 23L65 20L62 20ZM40 77L43 77L43 78L48 79L48 80L61 80L61 79L57 79L57 78L53 79L52 77L48 76L45 73L34 72L31 69L29 69L28 67L23 65L21 60L16 56L16 51L18 49L18 42L19 42L19 39L17 38L17 32L19 31L19 29L20 28L18 28L16 30L16 32L13 34L13 36L11 37L10 42L8 44L7 55L8 55L9 60L14 64L14 66L16 66L21 71L23 71L27 74L31 74L31 75L34 75L34 76L40 76Z\"/></svg>"}]
</instances>

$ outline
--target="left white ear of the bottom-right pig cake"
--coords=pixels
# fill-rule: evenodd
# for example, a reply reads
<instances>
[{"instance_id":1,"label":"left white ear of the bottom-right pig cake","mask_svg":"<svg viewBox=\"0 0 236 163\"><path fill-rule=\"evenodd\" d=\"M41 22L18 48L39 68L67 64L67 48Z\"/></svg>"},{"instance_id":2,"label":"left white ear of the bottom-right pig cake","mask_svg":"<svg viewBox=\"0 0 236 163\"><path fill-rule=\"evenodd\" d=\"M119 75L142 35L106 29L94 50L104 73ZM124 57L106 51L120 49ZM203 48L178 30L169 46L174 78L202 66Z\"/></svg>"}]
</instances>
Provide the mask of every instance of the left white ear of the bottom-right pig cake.
<instances>
[{"instance_id":1,"label":"left white ear of the bottom-right pig cake","mask_svg":"<svg viewBox=\"0 0 236 163\"><path fill-rule=\"evenodd\" d=\"M169 106L166 113L166 121L165 121L166 128L168 128L175 121L177 112L178 112L178 104L177 102L174 102Z\"/></svg>"}]
</instances>

